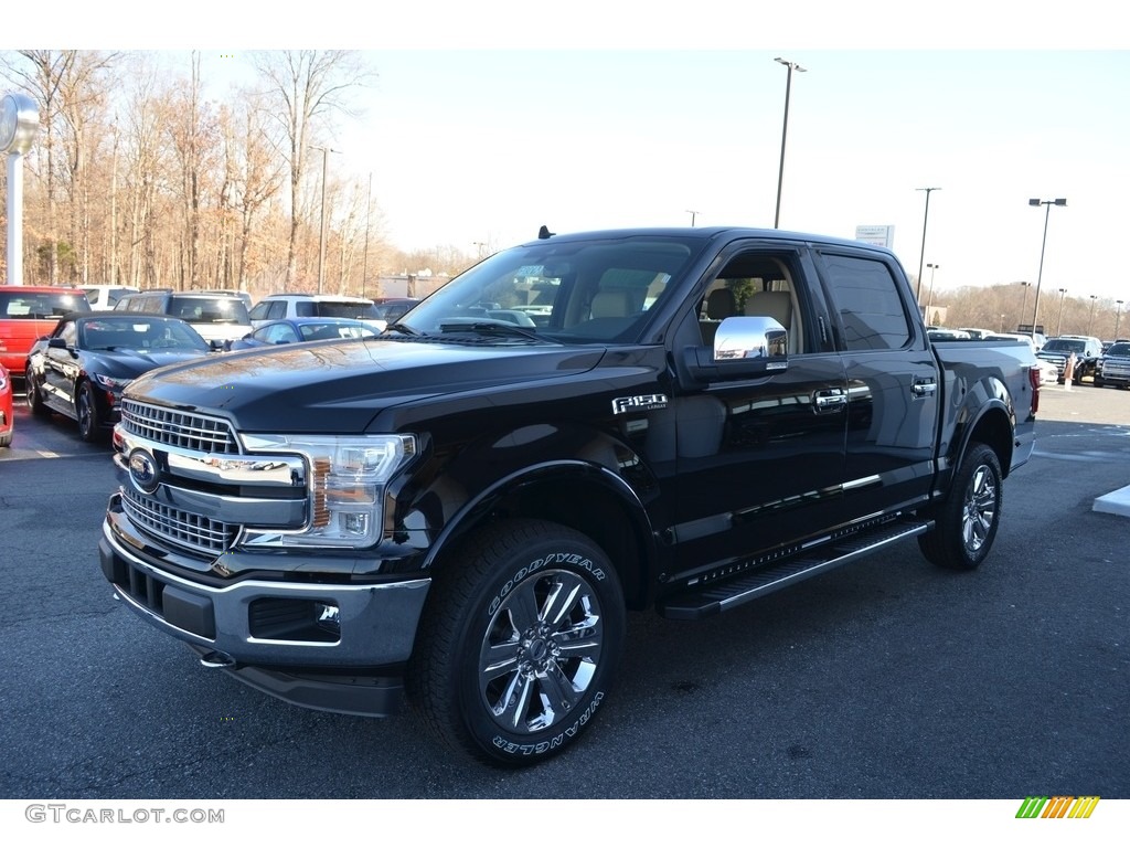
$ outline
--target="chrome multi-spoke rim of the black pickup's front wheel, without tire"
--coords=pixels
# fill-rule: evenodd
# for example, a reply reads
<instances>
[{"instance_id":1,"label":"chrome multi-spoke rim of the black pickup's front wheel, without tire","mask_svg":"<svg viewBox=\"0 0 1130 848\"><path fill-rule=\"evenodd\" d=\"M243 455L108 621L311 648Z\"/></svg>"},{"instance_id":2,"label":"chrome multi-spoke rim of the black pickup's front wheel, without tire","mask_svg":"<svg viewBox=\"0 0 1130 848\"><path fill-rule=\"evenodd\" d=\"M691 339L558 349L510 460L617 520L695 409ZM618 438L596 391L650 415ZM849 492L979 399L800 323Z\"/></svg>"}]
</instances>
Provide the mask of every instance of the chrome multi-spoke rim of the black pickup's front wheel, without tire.
<instances>
[{"instance_id":1,"label":"chrome multi-spoke rim of the black pickup's front wheel, without tire","mask_svg":"<svg viewBox=\"0 0 1130 848\"><path fill-rule=\"evenodd\" d=\"M479 692L512 733L545 730L568 715L600 664L597 592L571 571L531 574L495 612L479 651Z\"/></svg>"}]
</instances>

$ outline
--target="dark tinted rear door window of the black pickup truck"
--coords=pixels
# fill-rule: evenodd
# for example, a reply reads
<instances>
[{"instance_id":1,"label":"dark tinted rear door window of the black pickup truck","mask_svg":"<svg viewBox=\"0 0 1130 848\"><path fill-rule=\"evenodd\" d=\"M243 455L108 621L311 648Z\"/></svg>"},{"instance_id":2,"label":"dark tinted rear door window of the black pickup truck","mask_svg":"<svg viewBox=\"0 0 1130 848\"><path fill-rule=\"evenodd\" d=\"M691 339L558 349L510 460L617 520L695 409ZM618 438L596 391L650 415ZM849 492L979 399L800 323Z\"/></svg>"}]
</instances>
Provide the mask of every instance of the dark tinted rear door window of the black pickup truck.
<instances>
[{"instance_id":1,"label":"dark tinted rear door window of the black pickup truck","mask_svg":"<svg viewBox=\"0 0 1130 848\"><path fill-rule=\"evenodd\" d=\"M849 351L889 351L910 341L898 285L885 262L824 254L832 302Z\"/></svg>"}]
</instances>

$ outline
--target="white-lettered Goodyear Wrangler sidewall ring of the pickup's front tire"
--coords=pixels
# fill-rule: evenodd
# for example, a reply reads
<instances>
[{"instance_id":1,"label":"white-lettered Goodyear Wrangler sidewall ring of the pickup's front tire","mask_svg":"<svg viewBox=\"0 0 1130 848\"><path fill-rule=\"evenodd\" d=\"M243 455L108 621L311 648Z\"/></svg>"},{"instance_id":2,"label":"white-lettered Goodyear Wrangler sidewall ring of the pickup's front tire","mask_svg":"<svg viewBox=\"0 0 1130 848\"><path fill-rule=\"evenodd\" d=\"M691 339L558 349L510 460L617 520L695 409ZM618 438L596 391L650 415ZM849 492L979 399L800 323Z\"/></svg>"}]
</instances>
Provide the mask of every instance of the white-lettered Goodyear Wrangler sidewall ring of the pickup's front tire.
<instances>
[{"instance_id":1,"label":"white-lettered Goodyear Wrangler sidewall ring of the pickup's front tire","mask_svg":"<svg viewBox=\"0 0 1130 848\"><path fill-rule=\"evenodd\" d=\"M495 613L511 594L551 571L580 577L596 596L601 616L600 660L577 703L551 727L538 733L507 732L489 715L479 691L480 647ZM469 741L488 759L514 765L532 764L565 750L588 728L607 698L623 648L623 590L608 559L583 536L560 528L497 562L470 602L458 640L454 686Z\"/></svg>"}]
</instances>

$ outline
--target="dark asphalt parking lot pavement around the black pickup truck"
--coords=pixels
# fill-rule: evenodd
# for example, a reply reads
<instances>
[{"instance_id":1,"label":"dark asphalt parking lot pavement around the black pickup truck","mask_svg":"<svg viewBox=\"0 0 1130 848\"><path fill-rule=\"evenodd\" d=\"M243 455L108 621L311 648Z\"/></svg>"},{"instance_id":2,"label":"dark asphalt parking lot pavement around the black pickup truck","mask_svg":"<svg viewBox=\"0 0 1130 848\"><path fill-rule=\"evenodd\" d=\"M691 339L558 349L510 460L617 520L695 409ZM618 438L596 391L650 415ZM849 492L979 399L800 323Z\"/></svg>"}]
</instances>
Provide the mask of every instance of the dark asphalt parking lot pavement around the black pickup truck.
<instances>
[{"instance_id":1,"label":"dark asphalt parking lot pavement around the black pickup truck","mask_svg":"<svg viewBox=\"0 0 1130 848\"><path fill-rule=\"evenodd\" d=\"M633 615L589 737L504 773L410 712L270 699L138 621L97 565L108 447L25 413L0 456L0 797L997 798L1008 819L1031 795L1130 797L1128 519L1094 510L1130 484L1130 391L1042 390L975 573L910 540L704 622Z\"/></svg>"}]
</instances>

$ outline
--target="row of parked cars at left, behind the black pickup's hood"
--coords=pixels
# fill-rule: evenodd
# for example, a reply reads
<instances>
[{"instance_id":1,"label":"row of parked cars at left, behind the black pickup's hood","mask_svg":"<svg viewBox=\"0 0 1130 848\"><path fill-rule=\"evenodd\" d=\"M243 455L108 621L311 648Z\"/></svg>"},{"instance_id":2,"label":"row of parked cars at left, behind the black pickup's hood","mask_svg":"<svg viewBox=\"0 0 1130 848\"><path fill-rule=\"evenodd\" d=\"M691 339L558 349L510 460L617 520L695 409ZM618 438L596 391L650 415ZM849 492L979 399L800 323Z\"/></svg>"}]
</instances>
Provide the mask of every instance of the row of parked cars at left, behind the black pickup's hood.
<instances>
[{"instance_id":1,"label":"row of parked cars at left, behind the black pickup's hood","mask_svg":"<svg viewBox=\"0 0 1130 848\"><path fill-rule=\"evenodd\" d=\"M147 371L224 351L372 338L419 302L279 294L252 306L236 289L0 286L0 448L11 444L16 387L33 414L59 413L94 441Z\"/></svg>"}]
</instances>

